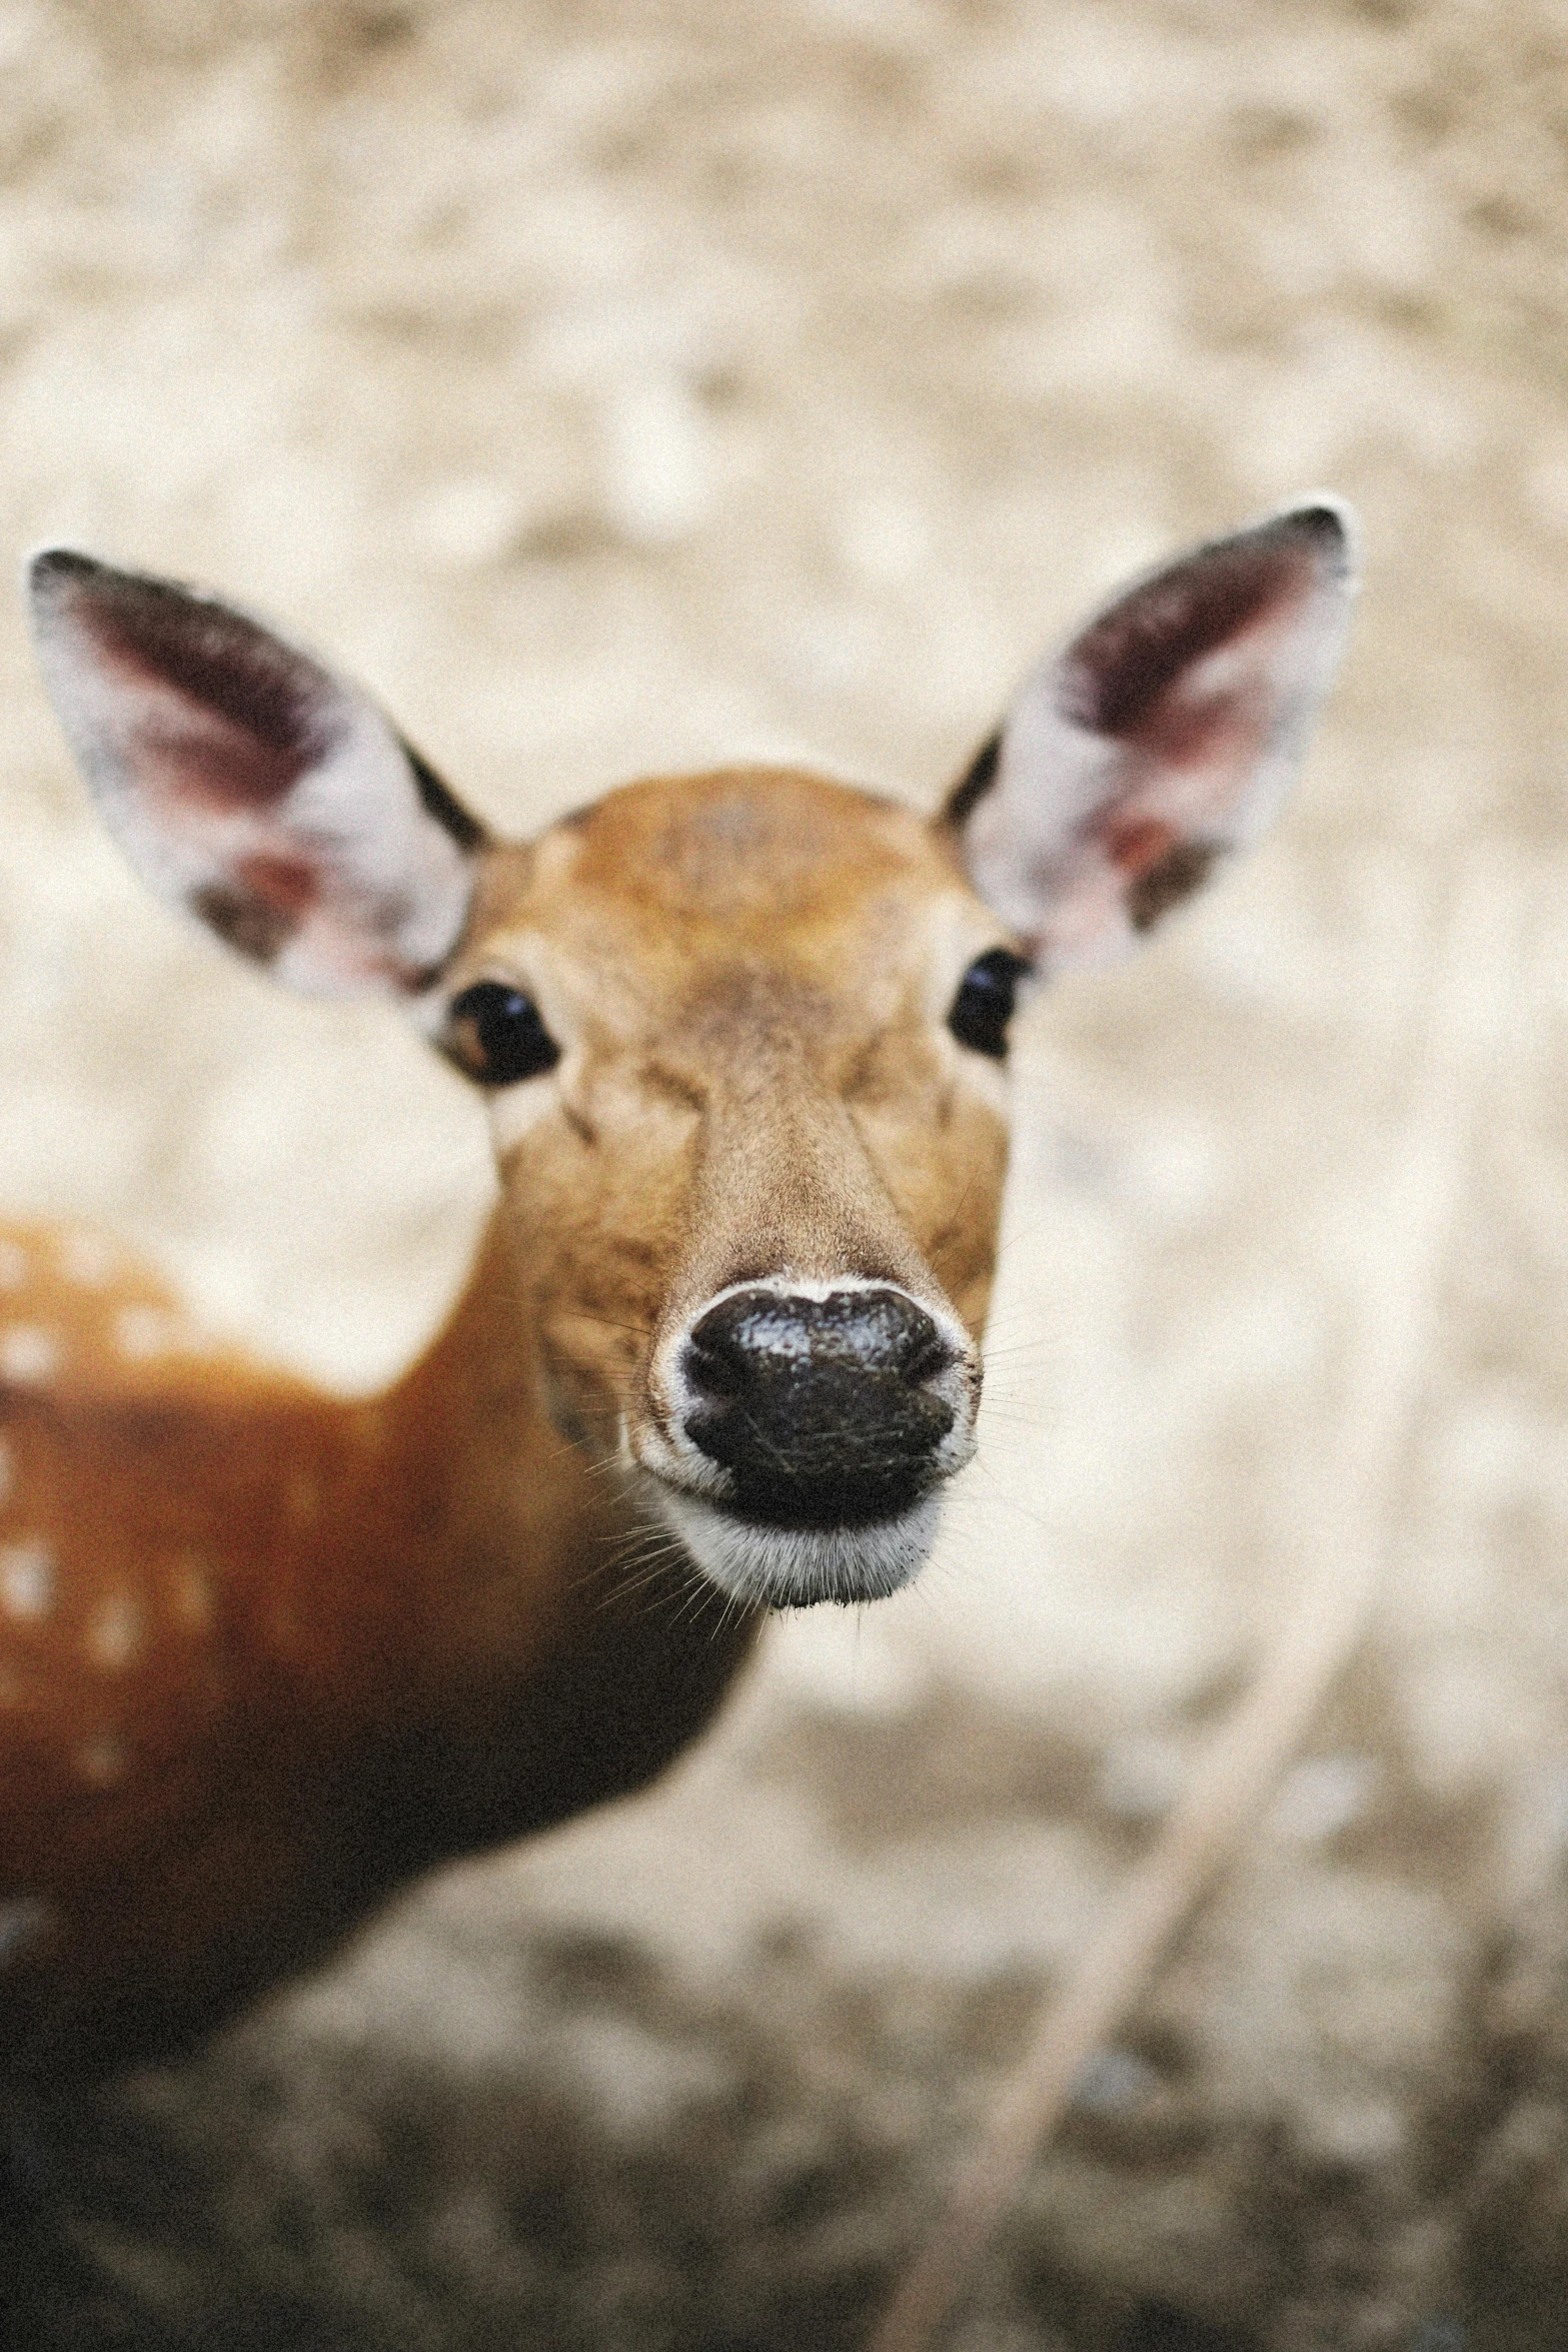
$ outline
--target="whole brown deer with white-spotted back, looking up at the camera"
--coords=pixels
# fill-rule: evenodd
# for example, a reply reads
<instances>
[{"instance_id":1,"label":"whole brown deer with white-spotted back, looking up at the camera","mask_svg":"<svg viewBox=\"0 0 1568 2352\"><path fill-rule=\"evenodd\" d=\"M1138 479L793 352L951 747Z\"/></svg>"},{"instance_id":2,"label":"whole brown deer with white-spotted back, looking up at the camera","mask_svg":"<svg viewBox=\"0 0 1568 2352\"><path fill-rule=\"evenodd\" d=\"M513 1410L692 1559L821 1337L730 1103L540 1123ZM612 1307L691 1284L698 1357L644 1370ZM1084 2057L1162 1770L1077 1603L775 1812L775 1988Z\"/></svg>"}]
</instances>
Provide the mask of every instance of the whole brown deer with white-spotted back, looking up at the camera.
<instances>
[{"instance_id":1,"label":"whole brown deer with white-spotted back, looking up at the camera","mask_svg":"<svg viewBox=\"0 0 1568 2352\"><path fill-rule=\"evenodd\" d=\"M162 2058L395 1889L646 1785L976 1449L1025 993L1260 837L1354 588L1309 499L1124 586L933 816L785 767L505 840L244 609L68 548L38 659L174 910L482 1091L444 1327L336 1397L0 1232L0 2082Z\"/></svg>"}]
</instances>

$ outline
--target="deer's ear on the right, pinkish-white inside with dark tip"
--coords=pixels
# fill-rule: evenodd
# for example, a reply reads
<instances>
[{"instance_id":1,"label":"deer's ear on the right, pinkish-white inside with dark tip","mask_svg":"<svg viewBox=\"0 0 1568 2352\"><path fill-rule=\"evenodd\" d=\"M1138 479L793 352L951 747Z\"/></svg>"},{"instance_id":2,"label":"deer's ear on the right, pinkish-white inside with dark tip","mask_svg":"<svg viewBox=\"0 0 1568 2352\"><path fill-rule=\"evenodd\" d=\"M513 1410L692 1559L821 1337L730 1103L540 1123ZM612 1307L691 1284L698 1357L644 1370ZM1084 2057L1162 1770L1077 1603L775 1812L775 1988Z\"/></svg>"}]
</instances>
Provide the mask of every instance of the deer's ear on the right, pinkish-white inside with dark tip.
<instances>
[{"instance_id":1,"label":"deer's ear on the right, pinkish-white inside with dark tip","mask_svg":"<svg viewBox=\"0 0 1568 2352\"><path fill-rule=\"evenodd\" d=\"M1025 680L940 823L1041 969L1126 953L1274 818L1352 593L1349 510L1314 499L1150 572Z\"/></svg>"}]
</instances>

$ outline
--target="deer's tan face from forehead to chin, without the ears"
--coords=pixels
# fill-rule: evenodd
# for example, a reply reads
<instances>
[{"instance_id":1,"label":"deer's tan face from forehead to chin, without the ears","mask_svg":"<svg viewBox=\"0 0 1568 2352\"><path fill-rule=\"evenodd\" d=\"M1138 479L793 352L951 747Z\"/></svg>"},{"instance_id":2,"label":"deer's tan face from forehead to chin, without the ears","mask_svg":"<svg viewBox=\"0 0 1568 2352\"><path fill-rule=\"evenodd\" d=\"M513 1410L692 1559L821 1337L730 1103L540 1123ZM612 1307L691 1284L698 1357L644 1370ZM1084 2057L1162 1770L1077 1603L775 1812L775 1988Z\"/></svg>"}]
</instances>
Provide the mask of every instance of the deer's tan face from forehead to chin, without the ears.
<instances>
[{"instance_id":1,"label":"deer's tan face from forehead to chin, without the ears","mask_svg":"<svg viewBox=\"0 0 1568 2352\"><path fill-rule=\"evenodd\" d=\"M435 1033L484 1082L494 1023L552 1409L731 1590L891 1590L973 1451L1004 1082L950 1016L1006 938L950 837L799 774L482 866Z\"/></svg>"}]
</instances>

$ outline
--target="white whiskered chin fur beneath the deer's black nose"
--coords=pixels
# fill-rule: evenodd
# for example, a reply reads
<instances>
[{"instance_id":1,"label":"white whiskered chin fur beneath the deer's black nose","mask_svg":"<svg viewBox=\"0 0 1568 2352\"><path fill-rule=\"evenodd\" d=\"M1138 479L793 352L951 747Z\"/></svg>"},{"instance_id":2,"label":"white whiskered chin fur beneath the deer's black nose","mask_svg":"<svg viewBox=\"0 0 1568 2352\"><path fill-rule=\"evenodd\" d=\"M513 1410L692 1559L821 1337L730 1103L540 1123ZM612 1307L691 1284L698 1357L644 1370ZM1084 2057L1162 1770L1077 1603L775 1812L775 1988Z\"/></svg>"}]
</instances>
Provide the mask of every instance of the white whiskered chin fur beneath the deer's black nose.
<instances>
[{"instance_id":1,"label":"white whiskered chin fur beneath the deer's black nose","mask_svg":"<svg viewBox=\"0 0 1568 2352\"><path fill-rule=\"evenodd\" d=\"M654 1494L703 1576L757 1609L886 1599L919 1573L943 1515L940 1494L929 1494L870 1526L757 1526L663 1479Z\"/></svg>"}]
</instances>

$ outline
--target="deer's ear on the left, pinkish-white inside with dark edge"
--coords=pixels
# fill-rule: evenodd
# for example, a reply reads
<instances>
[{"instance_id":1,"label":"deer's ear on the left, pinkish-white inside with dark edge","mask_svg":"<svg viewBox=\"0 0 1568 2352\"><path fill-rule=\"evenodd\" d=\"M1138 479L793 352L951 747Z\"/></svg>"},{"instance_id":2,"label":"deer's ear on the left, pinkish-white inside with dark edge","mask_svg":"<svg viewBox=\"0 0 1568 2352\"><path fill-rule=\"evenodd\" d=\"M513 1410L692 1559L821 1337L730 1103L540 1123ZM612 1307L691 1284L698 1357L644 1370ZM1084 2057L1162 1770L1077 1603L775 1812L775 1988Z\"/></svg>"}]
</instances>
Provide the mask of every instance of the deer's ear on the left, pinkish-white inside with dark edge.
<instances>
[{"instance_id":1,"label":"deer's ear on the left, pinkish-white inside with dark edge","mask_svg":"<svg viewBox=\"0 0 1568 2352\"><path fill-rule=\"evenodd\" d=\"M482 828L355 687L172 581L49 548L45 684L146 882L310 995L414 995L468 915Z\"/></svg>"}]
</instances>

